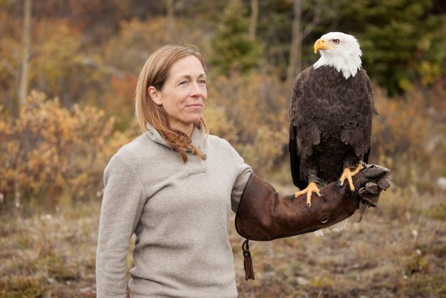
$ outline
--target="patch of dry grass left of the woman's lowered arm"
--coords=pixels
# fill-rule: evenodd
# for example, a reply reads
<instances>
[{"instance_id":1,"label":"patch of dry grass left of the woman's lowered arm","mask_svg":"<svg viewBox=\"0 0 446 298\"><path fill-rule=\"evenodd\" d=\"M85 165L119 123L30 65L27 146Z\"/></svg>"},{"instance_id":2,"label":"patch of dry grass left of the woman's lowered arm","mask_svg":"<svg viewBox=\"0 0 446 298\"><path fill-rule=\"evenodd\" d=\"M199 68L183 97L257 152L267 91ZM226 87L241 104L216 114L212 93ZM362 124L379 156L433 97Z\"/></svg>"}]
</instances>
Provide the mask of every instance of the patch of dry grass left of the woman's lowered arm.
<instances>
[{"instance_id":1,"label":"patch of dry grass left of the woman's lowered arm","mask_svg":"<svg viewBox=\"0 0 446 298\"><path fill-rule=\"evenodd\" d=\"M98 202L0 227L1 297L95 297Z\"/></svg>"}]
</instances>

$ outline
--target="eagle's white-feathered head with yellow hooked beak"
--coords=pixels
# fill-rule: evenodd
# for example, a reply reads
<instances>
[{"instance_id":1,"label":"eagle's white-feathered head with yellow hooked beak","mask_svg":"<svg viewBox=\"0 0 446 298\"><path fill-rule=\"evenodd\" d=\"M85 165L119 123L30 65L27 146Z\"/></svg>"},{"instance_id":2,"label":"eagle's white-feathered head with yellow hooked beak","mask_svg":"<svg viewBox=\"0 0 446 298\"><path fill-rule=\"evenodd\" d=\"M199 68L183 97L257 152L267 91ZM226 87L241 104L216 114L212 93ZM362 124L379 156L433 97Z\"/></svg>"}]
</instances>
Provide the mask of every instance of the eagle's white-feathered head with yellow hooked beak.
<instances>
[{"instance_id":1,"label":"eagle's white-feathered head with yellow hooked beak","mask_svg":"<svg viewBox=\"0 0 446 298\"><path fill-rule=\"evenodd\" d=\"M318 50L321 58L313 64L314 69L332 66L342 72L346 79L354 77L361 69L362 51L355 36L342 32L326 33L314 43L314 54Z\"/></svg>"}]
</instances>

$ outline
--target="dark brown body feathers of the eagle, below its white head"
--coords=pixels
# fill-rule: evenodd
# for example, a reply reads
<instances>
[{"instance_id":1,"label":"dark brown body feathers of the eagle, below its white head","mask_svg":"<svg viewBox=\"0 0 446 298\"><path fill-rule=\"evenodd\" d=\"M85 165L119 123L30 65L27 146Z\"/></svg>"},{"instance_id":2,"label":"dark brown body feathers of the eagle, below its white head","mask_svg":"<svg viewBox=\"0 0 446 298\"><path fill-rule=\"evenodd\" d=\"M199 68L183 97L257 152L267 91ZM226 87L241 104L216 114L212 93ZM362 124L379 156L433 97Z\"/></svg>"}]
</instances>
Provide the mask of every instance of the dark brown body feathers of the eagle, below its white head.
<instances>
[{"instance_id":1,"label":"dark brown body feathers of the eagle, below its white head","mask_svg":"<svg viewBox=\"0 0 446 298\"><path fill-rule=\"evenodd\" d=\"M345 165L367 163L374 111L365 70L345 77L331 66L305 69L293 89L290 115L291 173L300 189L314 173L337 181Z\"/></svg>"}]
</instances>

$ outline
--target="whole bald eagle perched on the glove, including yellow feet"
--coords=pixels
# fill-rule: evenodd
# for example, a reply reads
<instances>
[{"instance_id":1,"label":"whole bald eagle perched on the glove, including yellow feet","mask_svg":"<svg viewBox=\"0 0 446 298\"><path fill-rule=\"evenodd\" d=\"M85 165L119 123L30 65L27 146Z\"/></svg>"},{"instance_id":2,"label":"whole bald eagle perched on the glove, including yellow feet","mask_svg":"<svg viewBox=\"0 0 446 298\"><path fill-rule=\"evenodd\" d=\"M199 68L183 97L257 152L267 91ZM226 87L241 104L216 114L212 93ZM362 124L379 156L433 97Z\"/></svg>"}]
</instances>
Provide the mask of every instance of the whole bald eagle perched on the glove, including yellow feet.
<instances>
[{"instance_id":1,"label":"whole bald eagle perched on the glove, including yellow feet","mask_svg":"<svg viewBox=\"0 0 446 298\"><path fill-rule=\"evenodd\" d=\"M361 67L362 51L354 36L330 32L314 43L321 58L300 73L289 109L290 161L295 193L323 196L319 186L347 179L367 163L370 153L373 93Z\"/></svg>"}]
</instances>

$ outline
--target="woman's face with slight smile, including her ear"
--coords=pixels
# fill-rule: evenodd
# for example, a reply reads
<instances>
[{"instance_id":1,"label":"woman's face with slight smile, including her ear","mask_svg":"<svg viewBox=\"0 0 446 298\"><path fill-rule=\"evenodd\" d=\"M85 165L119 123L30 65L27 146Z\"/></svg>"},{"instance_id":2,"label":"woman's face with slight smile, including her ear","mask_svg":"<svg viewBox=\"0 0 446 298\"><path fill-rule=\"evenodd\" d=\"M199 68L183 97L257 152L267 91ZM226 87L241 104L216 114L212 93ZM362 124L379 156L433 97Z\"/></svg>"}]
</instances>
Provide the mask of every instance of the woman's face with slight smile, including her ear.
<instances>
[{"instance_id":1,"label":"woman's face with slight smile, including her ear","mask_svg":"<svg viewBox=\"0 0 446 298\"><path fill-rule=\"evenodd\" d=\"M206 74L197 57L187 56L172 64L161 90L148 87L148 94L169 115L171 128L192 133L208 99Z\"/></svg>"}]
</instances>

